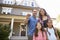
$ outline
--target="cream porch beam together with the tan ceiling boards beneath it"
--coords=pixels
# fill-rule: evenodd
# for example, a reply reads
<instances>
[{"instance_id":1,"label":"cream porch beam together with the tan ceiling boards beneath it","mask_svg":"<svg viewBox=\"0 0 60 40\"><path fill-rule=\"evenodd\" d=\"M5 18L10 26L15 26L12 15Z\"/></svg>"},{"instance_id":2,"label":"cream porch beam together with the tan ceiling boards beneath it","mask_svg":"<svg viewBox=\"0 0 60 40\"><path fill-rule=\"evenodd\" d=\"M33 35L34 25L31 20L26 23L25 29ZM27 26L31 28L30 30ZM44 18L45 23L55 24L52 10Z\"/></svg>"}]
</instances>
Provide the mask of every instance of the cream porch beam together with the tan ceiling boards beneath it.
<instances>
[{"instance_id":1,"label":"cream porch beam together with the tan ceiling boards beneath it","mask_svg":"<svg viewBox=\"0 0 60 40\"><path fill-rule=\"evenodd\" d=\"M11 22L11 19L14 18L14 22L23 22L24 16L15 16L15 15L0 15L0 22Z\"/></svg>"}]
</instances>

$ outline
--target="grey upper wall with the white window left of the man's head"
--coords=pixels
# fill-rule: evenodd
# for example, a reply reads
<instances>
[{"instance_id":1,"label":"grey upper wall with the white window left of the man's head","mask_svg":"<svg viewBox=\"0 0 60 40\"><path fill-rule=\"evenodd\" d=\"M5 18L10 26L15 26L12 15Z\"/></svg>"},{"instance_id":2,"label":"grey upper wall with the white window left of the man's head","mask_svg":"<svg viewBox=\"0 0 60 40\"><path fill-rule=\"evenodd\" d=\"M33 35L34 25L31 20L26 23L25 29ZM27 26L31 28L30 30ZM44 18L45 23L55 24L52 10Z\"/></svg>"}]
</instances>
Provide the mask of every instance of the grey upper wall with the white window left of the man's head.
<instances>
[{"instance_id":1,"label":"grey upper wall with the white window left of the man's head","mask_svg":"<svg viewBox=\"0 0 60 40\"><path fill-rule=\"evenodd\" d=\"M13 8L11 14L15 15L26 15L26 14L32 14L32 10L24 10L24 9L17 9Z\"/></svg>"}]
</instances>

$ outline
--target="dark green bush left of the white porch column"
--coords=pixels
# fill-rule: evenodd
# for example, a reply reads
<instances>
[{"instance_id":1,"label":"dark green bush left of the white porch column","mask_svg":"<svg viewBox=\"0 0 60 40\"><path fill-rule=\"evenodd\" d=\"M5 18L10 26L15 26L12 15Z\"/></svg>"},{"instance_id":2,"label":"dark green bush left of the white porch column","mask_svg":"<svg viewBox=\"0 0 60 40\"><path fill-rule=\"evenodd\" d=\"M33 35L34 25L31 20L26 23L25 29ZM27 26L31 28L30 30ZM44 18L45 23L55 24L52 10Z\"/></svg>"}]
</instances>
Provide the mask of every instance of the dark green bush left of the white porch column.
<instances>
[{"instance_id":1,"label":"dark green bush left of the white porch column","mask_svg":"<svg viewBox=\"0 0 60 40\"><path fill-rule=\"evenodd\" d=\"M10 31L10 25L0 24L0 40L9 40Z\"/></svg>"}]
</instances>

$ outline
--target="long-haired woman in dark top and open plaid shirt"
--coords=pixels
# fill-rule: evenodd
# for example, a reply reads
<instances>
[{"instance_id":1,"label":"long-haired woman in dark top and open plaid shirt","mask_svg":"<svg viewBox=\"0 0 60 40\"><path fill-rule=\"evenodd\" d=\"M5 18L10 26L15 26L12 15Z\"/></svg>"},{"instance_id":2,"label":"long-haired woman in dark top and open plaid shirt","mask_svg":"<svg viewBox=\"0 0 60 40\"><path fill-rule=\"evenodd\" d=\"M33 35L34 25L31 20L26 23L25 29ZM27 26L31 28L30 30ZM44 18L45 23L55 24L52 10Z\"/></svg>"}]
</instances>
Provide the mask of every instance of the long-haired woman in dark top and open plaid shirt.
<instances>
[{"instance_id":1,"label":"long-haired woman in dark top and open plaid shirt","mask_svg":"<svg viewBox=\"0 0 60 40\"><path fill-rule=\"evenodd\" d=\"M46 10L41 8L40 11L39 11L39 18L38 18L38 20L40 22L42 22L42 25L43 25L44 28L47 27L46 23L47 23L47 20L49 20L49 19L50 19L50 16L47 14Z\"/></svg>"}]
</instances>

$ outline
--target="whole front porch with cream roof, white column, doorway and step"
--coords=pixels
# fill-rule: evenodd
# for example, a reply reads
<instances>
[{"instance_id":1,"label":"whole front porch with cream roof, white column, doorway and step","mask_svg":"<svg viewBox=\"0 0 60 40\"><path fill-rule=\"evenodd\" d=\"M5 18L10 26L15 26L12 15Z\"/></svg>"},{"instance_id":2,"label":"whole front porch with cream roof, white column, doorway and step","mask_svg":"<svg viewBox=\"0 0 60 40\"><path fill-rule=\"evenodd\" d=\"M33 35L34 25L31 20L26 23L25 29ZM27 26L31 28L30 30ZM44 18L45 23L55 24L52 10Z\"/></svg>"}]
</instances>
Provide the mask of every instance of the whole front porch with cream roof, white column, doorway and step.
<instances>
[{"instance_id":1,"label":"whole front porch with cream roof, white column, doorway and step","mask_svg":"<svg viewBox=\"0 0 60 40\"><path fill-rule=\"evenodd\" d=\"M11 26L10 40L28 40L27 26L24 25L25 17L15 15L0 15L0 23Z\"/></svg>"}]
</instances>

